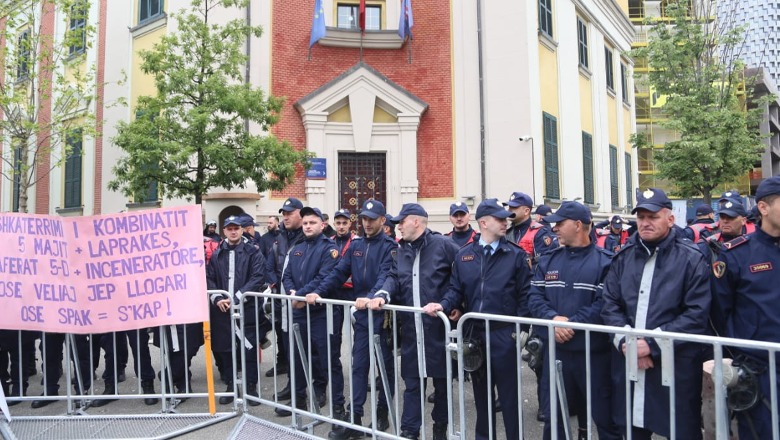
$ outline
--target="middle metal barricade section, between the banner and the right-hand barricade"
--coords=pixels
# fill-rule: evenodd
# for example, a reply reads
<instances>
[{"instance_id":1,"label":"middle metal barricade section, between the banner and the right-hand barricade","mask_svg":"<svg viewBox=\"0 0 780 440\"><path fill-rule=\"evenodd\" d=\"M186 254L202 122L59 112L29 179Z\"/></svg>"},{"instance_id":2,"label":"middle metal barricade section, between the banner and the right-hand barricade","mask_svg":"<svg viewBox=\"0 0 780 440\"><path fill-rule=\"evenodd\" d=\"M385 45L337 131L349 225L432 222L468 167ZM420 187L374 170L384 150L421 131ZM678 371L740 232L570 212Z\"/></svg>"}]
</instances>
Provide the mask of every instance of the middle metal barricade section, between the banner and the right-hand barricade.
<instances>
[{"instance_id":1,"label":"middle metal barricade section, between the banner and the right-hand barricade","mask_svg":"<svg viewBox=\"0 0 780 440\"><path fill-rule=\"evenodd\" d=\"M400 427L400 420L401 420L401 414L402 414L402 389L401 384L403 383L403 377L400 374L400 368L399 368L399 358L397 356L397 353L399 352L399 349L401 348L401 342L398 339L398 331L399 329L399 315L422 315L422 309L420 308L414 308L414 307L403 307L403 306L394 306L394 305L385 305L382 310L380 311L372 311L372 310L366 310L365 313L367 313L367 326L368 326L368 335L372 335L372 337L369 339L369 341L362 341L367 342L369 345L368 349L368 381L370 383L371 392L366 398L366 403L370 407L370 413L371 413L371 420L368 423L368 426L361 426L355 423L355 412L350 411L349 419L347 420L341 420L339 419L335 412L335 408L339 406L339 403L334 402L334 398L339 396L334 396L333 393L333 379L334 376L332 374L332 369L330 366L334 365L335 359L333 359L333 347L332 344L334 343L333 338L330 337L330 335L341 333L343 331L343 344L344 348L342 350L337 350L336 353L340 353L343 350L346 350L347 359L350 360L350 362L345 362L343 366L343 377L346 379L344 381L344 399L345 403L351 404L355 399L355 391L356 391L356 385L360 386L355 380L353 380L353 370L351 366L353 363L359 361L354 358L352 358L352 353L354 351L354 344L355 341L355 329L353 325L350 325L350 320L348 318L352 317L352 314L354 312L354 301L342 301L342 300L333 300L333 299L325 299L320 298L317 300L317 305L312 307L306 307L305 308L305 320L302 320L299 317L296 319L293 316L293 308L290 306L295 301L300 301L301 297L291 297L290 295L280 295L280 294L272 294L269 291L266 292L246 292L244 294L245 298L251 298L251 297L257 297L262 298L269 301L281 301L284 304L287 304L288 306L284 307L282 312L279 312L276 307L271 307L269 310L269 319L271 322L279 318L277 316L277 313L283 313L284 316L282 317L283 322L286 323L286 328L288 329L286 338L287 343L289 347L288 355L293 356L292 353L298 353L298 356L289 362L289 386L290 386L290 403L285 404L282 401L287 399L278 399L276 396L279 394L279 391L283 388L282 381L280 381L280 378L278 375L274 377L272 386L270 386L270 389L272 390L272 395L269 397L266 397L263 395L263 392L260 391L259 396L252 396L247 394L246 389L246 381L242 382L242 394L244 396L244 399L241 401L244 407L246 407L248 402L256 401L258 403L262 403L265 405L270 405L275 408L278 408L280 410L286 410L290 412L291 419L291 426L298 430L304 430L309 433L313 433L314 427L321 424L321 423L329 423L335 426L343 426L346 428L350 428L356 431L361 431L365 433L368 436L372 436L374 438L401 438L401 427ZM319 307L324 308L325 310L325 332L327 333L328 337L325 339L325 347L324 352L327 354L327 361L323 362L322 360L318 360L316 363L321 365L327 365L329 366L327 371L327 389L329 390L326 393L326 404L327 409L326 413L321 413L319 405L317 403L317 394L321 391L314 389L314 382L313 380L314 376L319 374L314 366L313 366L313 356L314 352L317 350L312 350L312 310L313 307ZM338 313L336 312L338 309L340 309L341 312L343 312L344 316L344 322L341 325L341 327L338 326L338 323L335 322L334 316L337 316ZM242 310L240 313L241 317L244 317L246 313L245 308L242 304ZM322 313L322 312L317 312ZM384 332L382 332L382 329L376 328L376 314L381 314L382 316L385 316L385 321L390 324L390 327L394 329L391 333L391 337L388 340L381 340L380 335ZM318 320L320 320L318 328L322 329L322 317L318 317ZM444 334L448 335L450 334L450 323L449 320L446 318L444 314L439 314L439 319L442 320L443 326L444 326ZM242 319L243 321L243 319ZM297 322L296 322L297 321ZM304 321L304 322L301 322ZM243 326L243 324L240 324ZM308 331L307 331L308 330ZM315 337L320 335L315 335ZM358 343L361 343L361 341L357 341ZM243 344L243 339L241 344ZM271 344L271 352L274 353L277 350L276 347L276 338L270 338L270 344ZM388 364L384 361L384 355L383 355L383 348L382 344L388 344L388 348L392 352L392 363ZM298 347L298 349L294 349L293 347ZM322 347L320 347L322 348ZM442 352L445 351L446 347L442 345L441 347ZM319 353L321 355L321 353ZM420 357L418 356L418 359ZM304 377L298 377L298 373L296 372L296 368L294 368L294 364L298 362L301 363L305 368L303 368L303 376ZM365 362L365 360L362 360L362 362ZM246 371L246 370L245 370ZM259 371L259 369L258 369ZM378 375L378 378L377 378ZM446 363L446 372L445 372L445 379L447 381L447 415L448 415L448 437L451 437L453 434L453 428L454 428L454 408L452 402L453 396L452 396L452 387L449 386L451 383L451 380L453 378L453 371L452 366L450 362ZM262 377L258 377L258 384L262 384L263 379ZM425 380L422 377L418 378L421 383ZM303 406L299 402L299 396L296 395L295 389L299 388L299 381L305 382L305 388L306 388L306 394L308 395L307 405ZM296 387L297 386L297 387ZM264 387L258 386L258 389L264 389ZM385 395L385 398L383 401L380 401L380 393L379 389L390 389L392 392L390 393L390 396ZM425 386L419 387L419 399L420 399L420 408L421 408L421 414L420 419L423 421L421 426L421 438L430 438L431 433L430 429L428 429L426 423L425 423L425 409L426 409L426 396L425 396ZM430 388L429 388L430 389ZM349 396L349 397L347 397ZM334 405L334 403L336 403ZM378 426L378 408L380 406L386 405L388 410L388 419L390 422L390 428L387 432L384 432L380 429L377 429ZM304 419L305 418L305 419ZM307 422L308 423L305 423ZM365 422L365 421L364 421Z\"/></svg>"}]
</instances>

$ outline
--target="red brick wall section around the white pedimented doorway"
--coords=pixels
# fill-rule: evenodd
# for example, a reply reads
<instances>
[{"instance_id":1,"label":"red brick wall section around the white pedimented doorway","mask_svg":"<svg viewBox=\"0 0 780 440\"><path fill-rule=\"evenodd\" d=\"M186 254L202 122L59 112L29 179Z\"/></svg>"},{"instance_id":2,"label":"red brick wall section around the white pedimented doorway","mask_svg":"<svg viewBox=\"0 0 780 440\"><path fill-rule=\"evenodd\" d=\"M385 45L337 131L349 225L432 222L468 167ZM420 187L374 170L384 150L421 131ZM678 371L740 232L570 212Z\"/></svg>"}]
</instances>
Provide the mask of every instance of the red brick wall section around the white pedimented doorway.
<instances>
[{"instance_id":1,"label":"red brick wall section around the white pedimented doorway","mask_svg":"<svg viewBox=\"0 0 780 440\"><path fill-rule=\"evenodd\" d=\"M387 0L396 1L396 0ZM299 149L306 147L306 132L293 104L303 96L357 64L360 50L315 44L307 60L314 0L274 0L272 17L271 90L287 99L274 134ZM418 131L417 167L419 197L452 197L452 74L450 6L443 0L413 4L414 40L396 50L363 50L363 62L427 102ZM394 20L388 20L388 22ZM332 23L329 20L328 23ZM395 28L397 23L388 23ZM266 29L267 31L267 29ZM408 63L409 48L412 63ZM304 196L304 176L274 197Z\"/></svg>"}]
</instances>

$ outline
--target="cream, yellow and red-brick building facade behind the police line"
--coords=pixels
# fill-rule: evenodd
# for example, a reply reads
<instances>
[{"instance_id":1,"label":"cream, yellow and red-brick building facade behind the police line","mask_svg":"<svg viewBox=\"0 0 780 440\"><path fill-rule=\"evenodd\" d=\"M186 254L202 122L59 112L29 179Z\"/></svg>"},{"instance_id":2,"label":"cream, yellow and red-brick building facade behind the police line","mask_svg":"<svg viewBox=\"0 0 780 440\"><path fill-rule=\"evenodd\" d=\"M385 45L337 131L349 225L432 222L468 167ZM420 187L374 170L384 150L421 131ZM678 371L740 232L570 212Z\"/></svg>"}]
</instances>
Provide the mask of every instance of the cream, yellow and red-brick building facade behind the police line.
<instances>
[{"instance_id":1,"label":"cream, yellow and red-brick building facade behind the police line","mask_svg":"<svg viewBox=\"0 0 780 440\"><path fill-rule=\"evenodd\" d=\"M187 0L92 3L97 29L89 46L101 77L103 121L85 139L84 215L187 203L133 204L107 189L121 152L118 121L131 120L139 96L154 93L138 52L176 32L171 14ZM325 36L309 48L314 0L290 8L252 1L218 11L264 33L248 42L248 81L286 100L273 133L316 156L308 176L282 192L215 190L204 215L244 210L258 220L288 196L324 212L357 210L373 197L396 213L422 203L432 227L448 229L454 201L475 207L513 191L553 206L580 200L595 215L630 211L636 187L633 66L625 57L634 28L614 0L412 1L411 39L398 35L401 2L322 0ZM104 84L104 85L102 85ZM126 101L127 106L107 105ZM251 127L251 130L258 130ZM49 179L48 206L60 206L62 178ZM0 187L3 209L13 194Z\"/></svg>"}]
</instances>

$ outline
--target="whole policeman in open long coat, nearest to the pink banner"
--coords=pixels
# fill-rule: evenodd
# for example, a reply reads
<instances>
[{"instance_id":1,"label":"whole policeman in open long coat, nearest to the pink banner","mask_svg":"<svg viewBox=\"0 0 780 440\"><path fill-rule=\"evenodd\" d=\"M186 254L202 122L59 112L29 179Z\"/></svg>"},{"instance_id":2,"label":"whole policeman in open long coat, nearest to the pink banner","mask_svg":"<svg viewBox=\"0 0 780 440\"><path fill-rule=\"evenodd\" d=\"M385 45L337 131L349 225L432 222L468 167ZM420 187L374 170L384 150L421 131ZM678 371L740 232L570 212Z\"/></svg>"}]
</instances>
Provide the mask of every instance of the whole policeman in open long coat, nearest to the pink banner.
<instances>
[{"instance_id":1,"label":"whole policeman in open long coat, nearest to the pink banner","mask_svg":"<svg viewBox=\"0 0 780 440\"><path fill-rule=\"evenodd\" d=\"M227 392L233 391L233 356L232 349L238 344L243 348L246 356L246 369L244 380L247 383L247 393L257 396L257 345L255 337L259 333L260 339L270 330L271 324L258 310L255 298L244 298L244 292L257 292L265 281L263 267L265 260L263 254L254 246L250 246L242 240L243 220L239 216L230 216L225 219L223 231L225 240L211 256L206 266L206 282L209 290L225 290L228 294L215 293L210 296L211 308L211 338L214 356L221 360L218 363L220 373L227 379ZM245 341L241 343L231 331L232 307L236 307L239 301L244 301L244 328ZM232 396L219 398L220 404L233 401ZM257 405L256 401L249 401Z\"/></svg>"}]
</instances>

